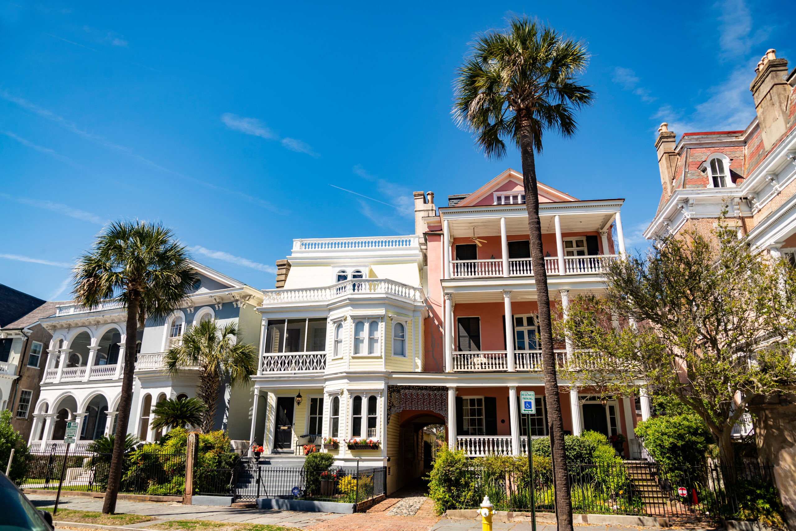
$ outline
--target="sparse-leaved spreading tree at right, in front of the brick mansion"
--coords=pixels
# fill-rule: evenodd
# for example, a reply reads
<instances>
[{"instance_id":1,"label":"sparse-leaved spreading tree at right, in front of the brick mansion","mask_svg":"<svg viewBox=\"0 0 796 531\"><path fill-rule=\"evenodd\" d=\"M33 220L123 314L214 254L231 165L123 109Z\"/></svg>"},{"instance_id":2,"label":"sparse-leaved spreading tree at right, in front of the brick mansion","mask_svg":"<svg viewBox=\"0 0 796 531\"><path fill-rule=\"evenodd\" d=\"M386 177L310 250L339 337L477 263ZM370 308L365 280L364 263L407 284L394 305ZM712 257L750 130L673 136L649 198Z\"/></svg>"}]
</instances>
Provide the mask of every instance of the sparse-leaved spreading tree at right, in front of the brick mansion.
<instances>
[{"instance_id":1,"label":"sparse-leaved spreading tree at right, in front of the brick mansion","mask_svg":"<svg viewBox=\"0 0 796 531\"><path fill-rule=\"evenodd\" d=\"M566 318L558 316L556 335L579 349L571 367L579 382L677 399L732 466L732 427L747 404L796 380L796 271L753 252L723 220L712 236L669 236L646 257L611 263L607 297L576 297Z\"/></svg>"}]
</instances>

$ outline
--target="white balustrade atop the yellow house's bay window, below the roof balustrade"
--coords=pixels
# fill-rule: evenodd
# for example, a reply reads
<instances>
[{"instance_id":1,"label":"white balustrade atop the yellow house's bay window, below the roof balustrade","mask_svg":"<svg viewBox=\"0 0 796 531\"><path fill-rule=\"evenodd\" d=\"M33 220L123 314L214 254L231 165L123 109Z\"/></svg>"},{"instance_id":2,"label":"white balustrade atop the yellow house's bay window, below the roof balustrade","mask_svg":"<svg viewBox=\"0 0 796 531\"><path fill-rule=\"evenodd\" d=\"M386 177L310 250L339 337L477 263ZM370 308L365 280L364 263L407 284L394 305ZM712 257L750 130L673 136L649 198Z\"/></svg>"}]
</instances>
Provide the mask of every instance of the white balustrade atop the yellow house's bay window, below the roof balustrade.
<instances>
[{"instance_id":1,"label":"white balustrade atop the yellow house's bay window, below the roof balustrade","mask_svg":"<svg viewBox=\"0 0 796 531\"><path fill-rule=\"evenodd\" d=\"M263 304L322 301L349 295L392 295L412 302L425 300L422 288L383 278L363 278L340 282L325 288L268 289L263 291Z\"/></svg>"}]
</instances>

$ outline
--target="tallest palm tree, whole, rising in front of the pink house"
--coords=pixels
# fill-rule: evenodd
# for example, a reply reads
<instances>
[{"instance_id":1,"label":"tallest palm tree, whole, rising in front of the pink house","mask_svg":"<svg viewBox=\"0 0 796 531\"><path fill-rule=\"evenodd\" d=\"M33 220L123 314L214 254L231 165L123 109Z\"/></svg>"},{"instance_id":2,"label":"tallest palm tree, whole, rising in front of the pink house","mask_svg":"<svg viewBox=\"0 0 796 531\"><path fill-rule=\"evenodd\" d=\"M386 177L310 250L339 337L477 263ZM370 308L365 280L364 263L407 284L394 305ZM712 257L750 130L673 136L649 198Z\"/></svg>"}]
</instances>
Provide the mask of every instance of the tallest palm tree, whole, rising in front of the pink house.
<instances>
[{"instance_id":1,"label":"tallest palm tree, whole, rising in front of the pink house","mask_svg":"<svg viewBox=\"0 0 796 531\"><path fill-rule=\"evenodd\" d=\"M472 46L472 56L458 68L453 112L458 125L474 134L476 145L486 157L505 156L504 139L520 150L539 305L544 394L552 433L556 513L563 526L559 529L572 529L534 152L541 153L542 135L548 130L558 131L564 137L575 134L575 111L590 104L594 97L576 79L586 68L589 56L583 43L563 37L527 17L513 18L508 29L485 33Z\"/></svg>"}]
</instances>

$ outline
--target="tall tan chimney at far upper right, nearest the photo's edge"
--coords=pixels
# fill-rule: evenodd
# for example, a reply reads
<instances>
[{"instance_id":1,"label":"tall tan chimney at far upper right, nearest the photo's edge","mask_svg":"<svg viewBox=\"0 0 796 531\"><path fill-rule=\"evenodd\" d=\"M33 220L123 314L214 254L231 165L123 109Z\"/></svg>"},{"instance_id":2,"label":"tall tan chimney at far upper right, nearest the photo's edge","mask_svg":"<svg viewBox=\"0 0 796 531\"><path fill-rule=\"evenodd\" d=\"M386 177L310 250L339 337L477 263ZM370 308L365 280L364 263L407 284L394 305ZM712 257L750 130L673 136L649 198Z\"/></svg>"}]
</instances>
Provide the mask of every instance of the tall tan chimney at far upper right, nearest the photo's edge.
<instances>
[{"instance_id":1,"label":"tall tan chimney at far upper right, nearest the photo's edge","mask_svg":"<svg viewBox=\"0 0 796 531\"><path fill-rule=\"evenodd\" d=\"M768 151L787 130L790 85L785 78L788 60L777 59L776 50L772 48L760 59L755 72L757 76L751 82L749 90L755 99L763 146Z\"/></svg>"}]
</instances>

